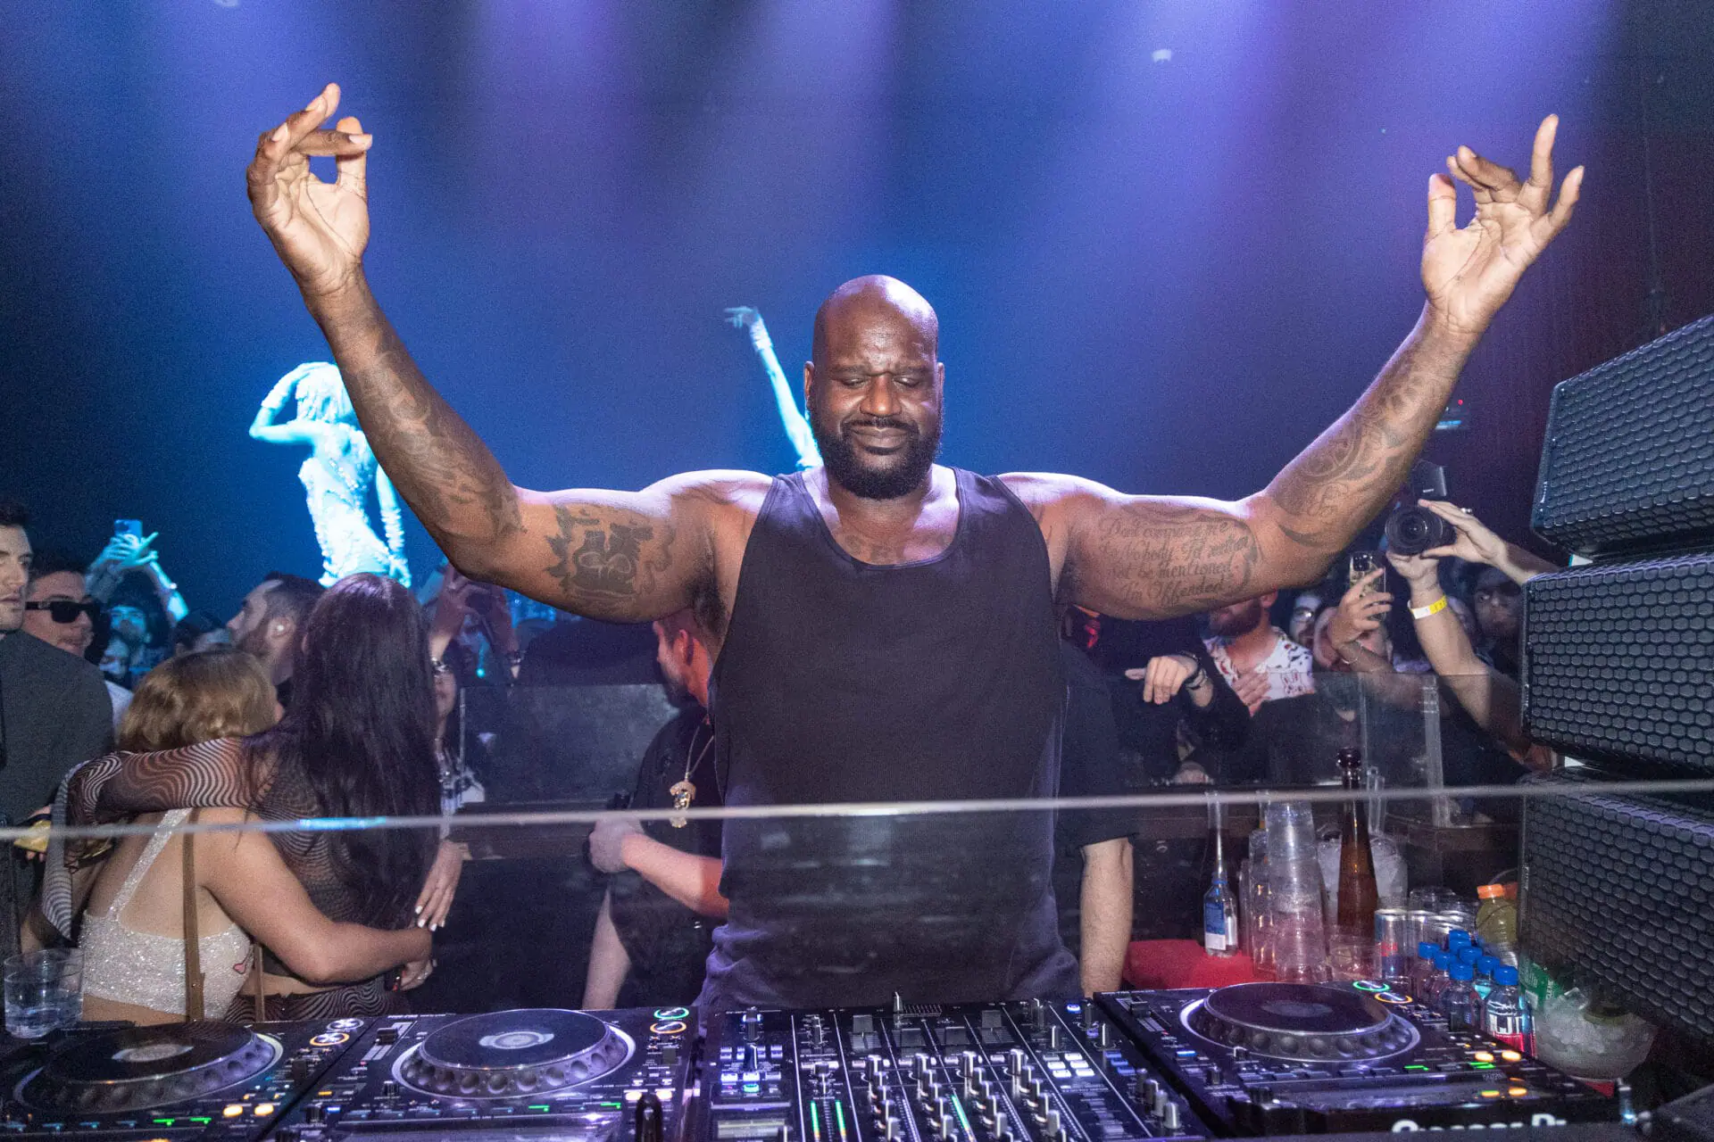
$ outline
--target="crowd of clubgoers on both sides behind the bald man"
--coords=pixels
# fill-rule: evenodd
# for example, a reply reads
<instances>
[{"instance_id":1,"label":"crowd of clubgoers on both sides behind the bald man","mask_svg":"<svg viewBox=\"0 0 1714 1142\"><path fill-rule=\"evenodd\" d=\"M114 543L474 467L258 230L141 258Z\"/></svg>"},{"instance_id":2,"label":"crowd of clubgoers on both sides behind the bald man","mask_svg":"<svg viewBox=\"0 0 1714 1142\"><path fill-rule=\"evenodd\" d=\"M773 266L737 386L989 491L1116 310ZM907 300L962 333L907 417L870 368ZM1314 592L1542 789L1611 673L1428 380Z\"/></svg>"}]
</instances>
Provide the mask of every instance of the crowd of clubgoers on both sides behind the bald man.
<instances>
[{"instance_id":1,"label":"crowd of clubgoers on both sides behind the bald man","mask_svg":"<svg viewBox=\"0 0 1714 1142\"><path fill-rule=\"evenodd\" d=\"M1390 572L1352 577L1340 558L1296 594L1169 622L1063 606L1070 700L1059 793L1325 781L1320 769L1354 740L1359 705L1364 717L1392 709L1416 719L1431 678L1448 699L1440 704L1448 786L1551 767L1522 735L1517 705L1520 586L1551 565L1462 509L1424 507L1447 520L1453 543L1390 555ZM684 786L699 808L720 803L710 640L691 610L653 625L560 615L514 627L521 599L442 567L417 596L375 574L333 587L269 574L221 623L189 608L154 536L118 534L87 562L33 550L29 522L19 505L0 509L5 817L45 818L63 782L67 824L166 825L115 846L53 846L46 875L41 861L26 861L27 849L15 851L12 880L39 882L22 943L81 943L91 1017L158 1022L185 1012L187 837L173 825L451 818L482 801L480 740L490 735L461 733L463 688L653 678L679 712L639 758L626 803L684 806ZM632 663L629 675L607 669L617 659ZM638 675L644 661L651 673ZM1421 784L1411 769L1419 753L1404 753L1375 760L1388 779ZM1119 984L1142 829L1124 810L1059 817L1061 866L1075 870L1070 887L1059 877L1070 918L1061 928L1085 991ZM199 1002L230 1019L399 1008L434 967L432 938L470 858L452 825L437 839L240 832L192 844L202 849L194 921L202 961L231 967L207 974ZM720 851L720 822L600 822L586 859L608 887L584 991L566 1002L692 1002L727 909ZM27 897L26 889L19 909Z\"/></svg>"}]
</instances>

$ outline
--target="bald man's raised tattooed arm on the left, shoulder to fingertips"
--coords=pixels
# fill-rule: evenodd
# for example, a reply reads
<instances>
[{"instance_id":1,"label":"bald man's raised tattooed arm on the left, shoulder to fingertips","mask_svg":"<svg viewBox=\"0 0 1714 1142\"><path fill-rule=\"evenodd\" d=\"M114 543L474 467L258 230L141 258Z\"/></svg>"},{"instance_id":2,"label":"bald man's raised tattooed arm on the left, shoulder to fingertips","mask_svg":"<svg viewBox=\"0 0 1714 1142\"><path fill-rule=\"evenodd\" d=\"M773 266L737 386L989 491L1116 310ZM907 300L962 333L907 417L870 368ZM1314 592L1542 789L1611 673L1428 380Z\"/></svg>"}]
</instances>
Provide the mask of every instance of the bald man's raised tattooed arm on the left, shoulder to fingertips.
<instances>
[{"instance_id":1,"label":"bald man's raised tattooed arm on the left, shoulder to fingertips","mask_svg":"<svg viewBox=\"0 0 1714 1142\"><path fill-rule=\"evenodd\" d=\"M370 135L334 115L339 89L257 142L250 205L321 324L370 449L447 558L579 615L658 618L701 604L723 491L747 474L680 476L644 491L514 488L494 454L423 378L363 277ZM309 156L336 158L322 183ZM704 613L706 618L706 613Z\"/></svg>"}]
</instances>

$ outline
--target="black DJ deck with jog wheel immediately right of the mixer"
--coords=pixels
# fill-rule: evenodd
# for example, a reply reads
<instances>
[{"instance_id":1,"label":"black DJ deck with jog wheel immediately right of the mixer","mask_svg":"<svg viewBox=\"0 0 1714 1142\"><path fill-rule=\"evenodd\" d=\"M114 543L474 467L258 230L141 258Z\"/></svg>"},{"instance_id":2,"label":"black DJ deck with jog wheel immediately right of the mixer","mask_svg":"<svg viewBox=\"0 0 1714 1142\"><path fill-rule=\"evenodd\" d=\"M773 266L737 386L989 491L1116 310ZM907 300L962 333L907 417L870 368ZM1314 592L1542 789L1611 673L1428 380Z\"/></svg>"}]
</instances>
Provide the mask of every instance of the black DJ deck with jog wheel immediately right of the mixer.
<instances>
[{"instance_id":1,"label":"black DJ deck with jog wheel immediately right of the mixer","mask_svg":"<svg viewBox=\"0 0 1714 1142\"><path fill-rule=\"evenodd\" d=\"M1553 1127L1618 1106L1387 984L1116 991L1106 1017L1222 1135Z\"/></svg>"}]
</instances>

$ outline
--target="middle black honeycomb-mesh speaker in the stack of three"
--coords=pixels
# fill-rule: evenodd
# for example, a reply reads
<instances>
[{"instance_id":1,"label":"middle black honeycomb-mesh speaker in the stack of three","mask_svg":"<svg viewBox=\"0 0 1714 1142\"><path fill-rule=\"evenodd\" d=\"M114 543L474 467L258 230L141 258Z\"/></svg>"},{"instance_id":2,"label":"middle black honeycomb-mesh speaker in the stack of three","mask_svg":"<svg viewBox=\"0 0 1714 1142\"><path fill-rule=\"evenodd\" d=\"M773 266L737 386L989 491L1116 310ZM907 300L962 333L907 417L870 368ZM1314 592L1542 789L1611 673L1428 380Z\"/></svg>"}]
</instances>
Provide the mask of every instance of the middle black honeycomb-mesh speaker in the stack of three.
<instances>
[{"instance_id":1,"label":"middle black honeycomb-mesh speaker in the stack of three","mask_svg":"<svg viewBox=\"0 0 1714 1142\"><path fill-rule=\"evenodd\" d=\"M1714 555L1531 579L1522 683L1537 741L1714 774Z\"/></svg>"}]
</instances>

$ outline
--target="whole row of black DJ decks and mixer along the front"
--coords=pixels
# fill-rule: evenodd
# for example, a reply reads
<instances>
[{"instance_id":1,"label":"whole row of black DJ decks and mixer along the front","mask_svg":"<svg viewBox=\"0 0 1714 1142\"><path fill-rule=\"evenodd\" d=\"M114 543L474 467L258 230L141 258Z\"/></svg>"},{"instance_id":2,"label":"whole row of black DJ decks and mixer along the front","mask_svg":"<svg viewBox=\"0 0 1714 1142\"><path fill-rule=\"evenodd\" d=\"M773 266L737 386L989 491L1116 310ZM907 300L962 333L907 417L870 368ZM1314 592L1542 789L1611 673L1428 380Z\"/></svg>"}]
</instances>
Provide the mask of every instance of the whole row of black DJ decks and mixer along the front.
<instances>
[{"instance_id":1,"label":"whole row of black DJ decks and mixer along the front","mask_svg":"<svg viewBox=\"0 0 1714 1142\"><path fill-rule=\"evenodd\" d=\"M86 1029L5 1056L24 1139L1145 1142L1616 1121L1378 983L888 1008Z\"/></svg>"}]
</instances>

